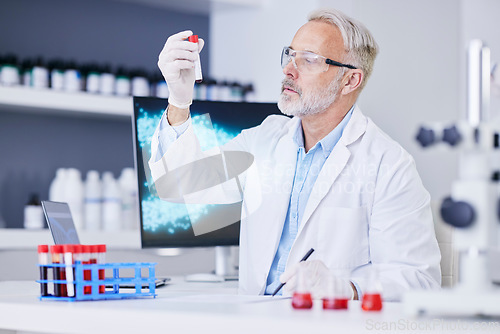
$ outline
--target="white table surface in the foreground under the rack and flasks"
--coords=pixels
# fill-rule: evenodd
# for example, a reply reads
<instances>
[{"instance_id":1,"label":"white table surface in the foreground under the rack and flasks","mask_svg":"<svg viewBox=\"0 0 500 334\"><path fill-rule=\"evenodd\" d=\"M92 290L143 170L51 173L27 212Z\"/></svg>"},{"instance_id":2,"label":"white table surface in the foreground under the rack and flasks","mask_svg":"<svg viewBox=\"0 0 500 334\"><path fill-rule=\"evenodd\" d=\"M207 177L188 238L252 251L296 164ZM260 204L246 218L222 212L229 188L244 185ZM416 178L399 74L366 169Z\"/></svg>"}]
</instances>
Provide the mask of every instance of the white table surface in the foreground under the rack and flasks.
<instances>
[{"instance_id":1,"label":"white table surface in the foreground under the rack and flasks","mask_svg":"<svg viewBox=\"0 0 500 334\"><path fill-rule=\"evenodd\" d=\"M408 318L400 303L381 312L294 310L290 299L249 302L237 282L186 283L174 278L156 298L40 301L39 285L0 282L0 328L45 333L500 333L498 319ZM488 325L496 322L496 325ZM486 324L485 324L486 323Z\"/></svg>"}]
</instances>

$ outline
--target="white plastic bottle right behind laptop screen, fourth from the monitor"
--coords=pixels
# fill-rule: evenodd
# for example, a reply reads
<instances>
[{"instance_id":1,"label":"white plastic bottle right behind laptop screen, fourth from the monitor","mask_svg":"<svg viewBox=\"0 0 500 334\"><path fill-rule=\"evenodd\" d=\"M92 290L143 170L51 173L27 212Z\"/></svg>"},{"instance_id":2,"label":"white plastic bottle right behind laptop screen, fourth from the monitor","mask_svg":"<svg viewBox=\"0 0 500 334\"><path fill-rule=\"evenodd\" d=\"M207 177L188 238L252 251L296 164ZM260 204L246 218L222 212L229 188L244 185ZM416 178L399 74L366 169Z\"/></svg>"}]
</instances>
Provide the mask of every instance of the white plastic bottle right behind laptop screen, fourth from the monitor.
<instances>
[{"instance_id":1,"label":"white plastic bottle right behind laptop screen, fourth from the monitor","mask_svg":"<svg viewBox=\"0 0 500 334\"><path fill-rule=\"evenodd\" d=\"M67 182L64 185L64 197L71 210L73 222L77 230L83 230L83 182L81 173L76 168L67 171Z\"/></svg>"}]
</instances>

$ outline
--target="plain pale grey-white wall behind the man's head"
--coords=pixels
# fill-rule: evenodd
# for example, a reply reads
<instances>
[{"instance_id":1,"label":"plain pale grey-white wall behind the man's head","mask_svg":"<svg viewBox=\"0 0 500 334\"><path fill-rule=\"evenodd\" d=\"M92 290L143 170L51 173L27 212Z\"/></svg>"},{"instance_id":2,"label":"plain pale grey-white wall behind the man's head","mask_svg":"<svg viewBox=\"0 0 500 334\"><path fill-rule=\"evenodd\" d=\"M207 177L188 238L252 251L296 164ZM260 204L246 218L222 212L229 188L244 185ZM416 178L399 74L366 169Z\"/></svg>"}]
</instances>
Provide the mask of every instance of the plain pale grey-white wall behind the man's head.
<instances>
[{"instance_id":1,"label":"plain pale grey-white wall behind the man's head","mask_svg":"<svg viewBox=\"0 0 500 334\"><path fill-rule=\"evenodd\" d=\"M434 200L449 194L457 153L415 142L422 123L453 121L465 110L465 47L488 40L500 59L498 0L268 0L252 10L218 10L210 18L211 74L252 81L259 101L277 101L279 54L307 14L334 7L363 22L380 45L359 105L415 158ZM236 36L240 35L240 40ZM495 59L495 56L493 57Z\"/></svg>"}]
</instances>

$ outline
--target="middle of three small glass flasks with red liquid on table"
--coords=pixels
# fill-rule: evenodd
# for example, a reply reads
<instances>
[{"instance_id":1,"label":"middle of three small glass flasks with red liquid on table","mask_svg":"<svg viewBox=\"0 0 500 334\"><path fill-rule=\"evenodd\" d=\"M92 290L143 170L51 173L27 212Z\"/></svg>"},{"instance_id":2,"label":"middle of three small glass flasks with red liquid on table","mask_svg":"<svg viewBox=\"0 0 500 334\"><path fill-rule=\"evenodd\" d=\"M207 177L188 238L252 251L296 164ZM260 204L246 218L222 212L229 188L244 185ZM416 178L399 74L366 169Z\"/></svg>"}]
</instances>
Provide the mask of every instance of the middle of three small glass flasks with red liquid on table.
<instances>
[{"instance_id":1,"label":"middle of three small glass flasks with red liquid on table","mask_svg":"<svg viewBox=\"0 0 500 334\"><path fill-rule=\"evenodd\" d=\"M352 296L350 281L343 273L328 273L325 277L324 310L345 310Z\"/></svg>"}]
</instances>

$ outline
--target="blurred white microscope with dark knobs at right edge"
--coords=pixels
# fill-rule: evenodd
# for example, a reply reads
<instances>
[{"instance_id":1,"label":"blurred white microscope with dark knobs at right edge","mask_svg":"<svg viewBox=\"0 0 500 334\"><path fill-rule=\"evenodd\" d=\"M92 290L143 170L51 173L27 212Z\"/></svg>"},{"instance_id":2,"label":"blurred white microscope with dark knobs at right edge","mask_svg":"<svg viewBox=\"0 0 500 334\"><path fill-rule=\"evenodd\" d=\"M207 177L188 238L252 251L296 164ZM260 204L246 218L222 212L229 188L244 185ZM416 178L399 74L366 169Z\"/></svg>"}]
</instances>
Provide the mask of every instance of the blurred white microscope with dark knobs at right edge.
<instances>
[{"instance_id":1,"label":"blurred white microscope with dark knobs at right edge","mask_svg":"<svg viewBox=\"0 0 500 334\"><path fill-rule=\"evenodd\" d=\"M480 40L467 51L467 115L449 127L422 127L423 147L445 142L459 150L458 179L441 203L454 229L458 283L449 289L414 290L403 298L408 315L500 316L500 288L490 268L500 234L500 120L490 118L490 49Z\"/></svg>"}]
</instances>

